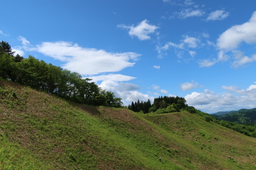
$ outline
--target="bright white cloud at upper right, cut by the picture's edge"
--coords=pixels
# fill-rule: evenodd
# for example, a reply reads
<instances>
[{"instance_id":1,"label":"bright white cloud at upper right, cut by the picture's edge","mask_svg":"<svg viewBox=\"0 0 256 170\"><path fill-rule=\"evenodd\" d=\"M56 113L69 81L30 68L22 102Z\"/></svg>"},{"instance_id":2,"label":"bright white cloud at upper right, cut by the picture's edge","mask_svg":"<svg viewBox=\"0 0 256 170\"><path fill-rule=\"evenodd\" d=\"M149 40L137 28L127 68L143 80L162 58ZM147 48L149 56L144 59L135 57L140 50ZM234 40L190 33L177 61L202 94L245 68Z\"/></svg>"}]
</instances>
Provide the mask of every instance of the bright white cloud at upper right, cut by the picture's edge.
<instances>
[{"instance_id":1,"label":"bright white cloud at upper right, cut by the picture's edge","mask_svg":"<svg viewBox=\"0 0 256 170\"><path fill-rule=\"evenodd\" d=\"M217 40L220 49L230 51L238 48L241 42L248 44L256 43L256 11L252 14L248 22L242 25L232 26L222 33Z\"/></svg>"}]
</instances>

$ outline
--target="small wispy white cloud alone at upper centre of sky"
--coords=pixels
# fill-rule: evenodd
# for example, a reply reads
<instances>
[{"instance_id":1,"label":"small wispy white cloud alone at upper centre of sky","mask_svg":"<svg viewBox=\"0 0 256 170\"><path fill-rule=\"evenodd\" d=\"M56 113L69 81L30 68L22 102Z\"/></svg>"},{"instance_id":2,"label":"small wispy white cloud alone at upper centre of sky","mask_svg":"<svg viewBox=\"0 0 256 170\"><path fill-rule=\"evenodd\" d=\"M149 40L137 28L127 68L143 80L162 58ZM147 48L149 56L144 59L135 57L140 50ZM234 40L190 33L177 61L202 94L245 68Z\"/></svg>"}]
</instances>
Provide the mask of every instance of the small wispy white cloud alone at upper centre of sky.
<instances>
[{"instance_id":1,"label":"small wispy white cloud alone at upper centre of sky","mask_svg":"<svg viewBox=\"0 0 256 170\"><path fill-rule=\"evenodd\" d=\"M159 28L154 25L149 25L148 20L146 19L141 21L136 27L125 25L118 25L117 27L129 30L130 36L137 36L140 40L150 39L151 37L149 34L154 33L155 30Z\"/></svg>"}]
</instances>

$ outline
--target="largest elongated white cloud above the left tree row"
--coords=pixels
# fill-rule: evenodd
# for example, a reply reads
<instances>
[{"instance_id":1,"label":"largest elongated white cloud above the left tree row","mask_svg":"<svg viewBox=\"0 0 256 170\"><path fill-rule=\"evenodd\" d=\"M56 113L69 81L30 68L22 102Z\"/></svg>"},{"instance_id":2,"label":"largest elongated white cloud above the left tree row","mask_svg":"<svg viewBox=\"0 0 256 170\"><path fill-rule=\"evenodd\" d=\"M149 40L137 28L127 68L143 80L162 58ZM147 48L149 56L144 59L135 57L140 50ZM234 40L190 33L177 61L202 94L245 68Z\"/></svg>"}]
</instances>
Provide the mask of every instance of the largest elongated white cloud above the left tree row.
<instances>
[{"instance_id":1,"label":"largest elongated white cloud above the left tree row","mask_svg":"<svg viewBox=\"0 0 256 170\"><path fill-rule=\"evenodd\" d=\"M95 48L83 48L71 42L42 42L36 51L65 62L62 68L79 72L81 75L97 75L100 72L115 72L134 66L140 54L109 53Z\"/></svg>"}]
</instances>

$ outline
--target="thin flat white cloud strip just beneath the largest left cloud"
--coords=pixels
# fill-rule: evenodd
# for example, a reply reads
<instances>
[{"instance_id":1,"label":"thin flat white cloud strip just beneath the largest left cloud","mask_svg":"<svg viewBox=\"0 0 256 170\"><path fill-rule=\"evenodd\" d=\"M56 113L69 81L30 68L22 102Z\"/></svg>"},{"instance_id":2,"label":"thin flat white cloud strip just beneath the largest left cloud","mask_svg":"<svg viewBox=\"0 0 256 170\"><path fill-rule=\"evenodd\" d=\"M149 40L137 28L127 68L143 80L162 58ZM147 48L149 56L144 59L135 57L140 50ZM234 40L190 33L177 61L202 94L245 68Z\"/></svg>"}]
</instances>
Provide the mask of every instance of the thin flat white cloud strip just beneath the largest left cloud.
<instances>
[{"instance_id":1,"label":"thin flat white cloud strip just beneath the largest left cloud","mask_svg":"<svg viewBox=\"0 0 256 170\"><path fill-rule=\"evenodd\" d=\"M125 75L120 75L120 74L91 76L91 77L86 77L86 78L93 79L93 82L105 81L105 80L112 80L112 81L116 81L116 82L122 82L122 81L130 81L130 80L136 79L135 77L125 76Z\"/></svg>"}]
</instances>

